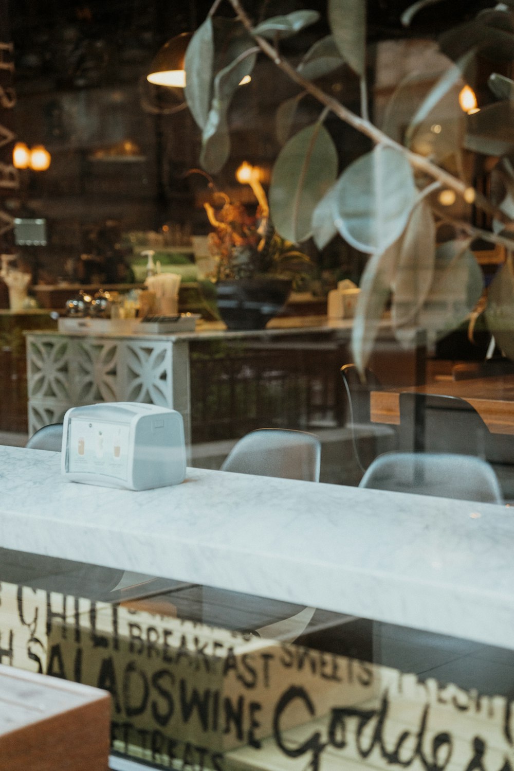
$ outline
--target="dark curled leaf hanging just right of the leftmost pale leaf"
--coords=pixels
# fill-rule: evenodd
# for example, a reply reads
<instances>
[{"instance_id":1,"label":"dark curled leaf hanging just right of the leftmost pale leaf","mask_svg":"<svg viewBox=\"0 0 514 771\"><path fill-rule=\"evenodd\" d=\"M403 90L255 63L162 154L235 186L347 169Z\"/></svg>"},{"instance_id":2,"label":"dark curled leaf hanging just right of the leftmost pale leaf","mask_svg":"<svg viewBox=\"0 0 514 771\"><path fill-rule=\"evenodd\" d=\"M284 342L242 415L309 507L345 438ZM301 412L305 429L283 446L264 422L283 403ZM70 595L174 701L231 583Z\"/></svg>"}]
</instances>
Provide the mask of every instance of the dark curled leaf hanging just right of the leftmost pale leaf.
<instances>
[{"instance_id":1,"label":"dark curled leaf hanging just right of the leftmost pale leaf","mask_svg":"<svg viewBox=\"0 0 514 771\"><path fill-rule=\"evenodd\" d=\"M255 53L250 53L244 59L235 59L214 78L213 100L203 129L200 152L200 165L210 174L217 174L230 155L227 121L230 100L240 81L252 71L256 58Z\"/></svg>"}]
</instances>

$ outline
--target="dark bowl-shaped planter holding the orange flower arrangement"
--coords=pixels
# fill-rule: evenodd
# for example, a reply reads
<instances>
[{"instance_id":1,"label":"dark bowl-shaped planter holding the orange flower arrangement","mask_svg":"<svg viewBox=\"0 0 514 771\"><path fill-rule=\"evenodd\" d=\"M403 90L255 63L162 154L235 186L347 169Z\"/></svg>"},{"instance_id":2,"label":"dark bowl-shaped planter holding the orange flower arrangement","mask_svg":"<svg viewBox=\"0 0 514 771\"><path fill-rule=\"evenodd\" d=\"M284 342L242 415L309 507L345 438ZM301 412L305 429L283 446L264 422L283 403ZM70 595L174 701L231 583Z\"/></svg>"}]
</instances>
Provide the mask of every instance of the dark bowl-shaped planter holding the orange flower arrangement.
<instances>
[{"instance_id":1,"label":"dark bowl-shaped planter holding the orange flower arrangement","mask_svg":"<svg viewBox=\"0 0 514 771\"><path fill-rule=\"evenodd\" d=\"M291 291L287 278L242 278L218 281L218 311L227 329L264 329L284 308Z\"/></svg>"}]
</instances>

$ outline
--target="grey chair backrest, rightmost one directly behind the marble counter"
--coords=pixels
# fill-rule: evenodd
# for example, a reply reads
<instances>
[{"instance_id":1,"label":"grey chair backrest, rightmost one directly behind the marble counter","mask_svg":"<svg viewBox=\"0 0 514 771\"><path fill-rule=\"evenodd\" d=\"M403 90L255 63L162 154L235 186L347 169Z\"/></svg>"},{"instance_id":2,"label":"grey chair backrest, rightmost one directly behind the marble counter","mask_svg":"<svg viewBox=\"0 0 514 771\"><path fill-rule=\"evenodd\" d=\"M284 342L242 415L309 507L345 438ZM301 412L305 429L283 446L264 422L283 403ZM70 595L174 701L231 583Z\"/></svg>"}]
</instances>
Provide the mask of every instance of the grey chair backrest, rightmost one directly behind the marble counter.
<instances>
[{"instance_id":1,"label":"grey chair backrest, rightmost one directly behind the marble counter","mask_svg":"<svg viewBox=\"0 0 514 771\"><path fill-rule=\"evenodd\" d=\"M359 487L503 503L492 467L470 455L385 453L371 463Z\"/></svg>"}]
</instances>

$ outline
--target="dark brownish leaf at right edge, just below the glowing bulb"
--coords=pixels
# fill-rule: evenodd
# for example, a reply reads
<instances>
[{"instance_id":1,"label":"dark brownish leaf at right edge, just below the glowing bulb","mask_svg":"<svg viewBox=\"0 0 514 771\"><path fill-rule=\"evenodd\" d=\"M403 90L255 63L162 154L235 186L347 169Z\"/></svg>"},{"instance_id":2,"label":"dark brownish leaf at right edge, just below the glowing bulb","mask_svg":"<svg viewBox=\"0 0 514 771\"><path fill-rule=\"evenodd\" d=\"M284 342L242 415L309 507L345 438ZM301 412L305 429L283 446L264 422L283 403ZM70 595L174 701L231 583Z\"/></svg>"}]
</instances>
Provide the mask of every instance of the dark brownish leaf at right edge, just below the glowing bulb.
<instances>
[{"instance_id":1,"label":"dark brownish leaf at right edge, just below the glowing bulb","mask_svg":"<svg viewBox=\"0 0 514 771\"><path fill-rule=\"evenodd\" d=\"M514 104L497 102L467 116L465 147L485 155L514 152Z\"/></svg>"}]
</instances>

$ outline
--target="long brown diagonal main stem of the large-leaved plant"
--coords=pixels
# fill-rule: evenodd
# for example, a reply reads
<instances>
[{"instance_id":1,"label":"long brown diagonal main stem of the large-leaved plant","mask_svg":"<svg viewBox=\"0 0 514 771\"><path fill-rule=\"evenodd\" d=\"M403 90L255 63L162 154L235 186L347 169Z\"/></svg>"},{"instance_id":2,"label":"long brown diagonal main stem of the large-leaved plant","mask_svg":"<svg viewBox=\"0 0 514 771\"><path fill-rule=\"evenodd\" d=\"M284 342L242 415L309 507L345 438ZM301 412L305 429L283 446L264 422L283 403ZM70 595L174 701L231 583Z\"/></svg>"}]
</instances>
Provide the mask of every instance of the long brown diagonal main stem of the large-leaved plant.
<instances>
[{"instance_id":1,"label":"long brown diagonal main stem of the large-leaved plant","mask_svg":"<svg viewBox=\"0 0 514 771\"><path fill-rule=\"evenodd\" d=\"M352 113L348 107L345 107L343 104L341 104L341 102L338 102L337 99L334 99L332 96L328 96L327 93L316 86L313 82L301 76L301 74L297 72L289 62L287 62L287 59L284 59L284 57L281 56L281 54L277 52L277 50L274 49L274 47L270 45L266 39L260 37L260 35L254 35L252 23L250 22L247 13L244 11L244 8L240 4L240 0L228 0L228 2L230 2L230 5L232 5L234 11L237 14L237 17L240 19L240 22L244 25L248 32L250 32L250 35L252 35L255 42L257 42L257 45L259 45L260 49L266 54L266 56L269 56L269 58L277 65L277 67L285 72L286 75L291 78L291 80L297 83L298 86L301 86L301 88L307 91L307 93L310 93L311 96L314 96L314 99L317 99L318 102L321 102L321 104L324 104L329 109L331 109L334 115L337 115L338 118L344 120L344 123L348 123L349 126L352 126L361 134L368 136L368 138L375 142L375 144L382 144L386 147L392 147L393 149L398 150L398 152L403 153L412 167L418 171L422 171L425 174L428 174L429 177L438 180L442 186L449 187L451 190L455 190L455 193L459 194L460 196L464 196L465 193L469 194L472 188L470 188L469 185L466 185L465 182L462 182L462 180L454 177L453 174L436 166L435 163L432 163L432 161L428 160L428 158L425 158L422 155L418 155L418 153L413 153L412 150L408 150L407 147L391 139L390 136L378 129L377 126L371 123L371 121L364 117L355 115L355 113ZM502 222L509 221L509 217L506 217L502 211L494 207L485 196L476 190L474 191L474 194L475 206L479 207L487 214L491 214Z\"/></svg>"}]
</instances>

